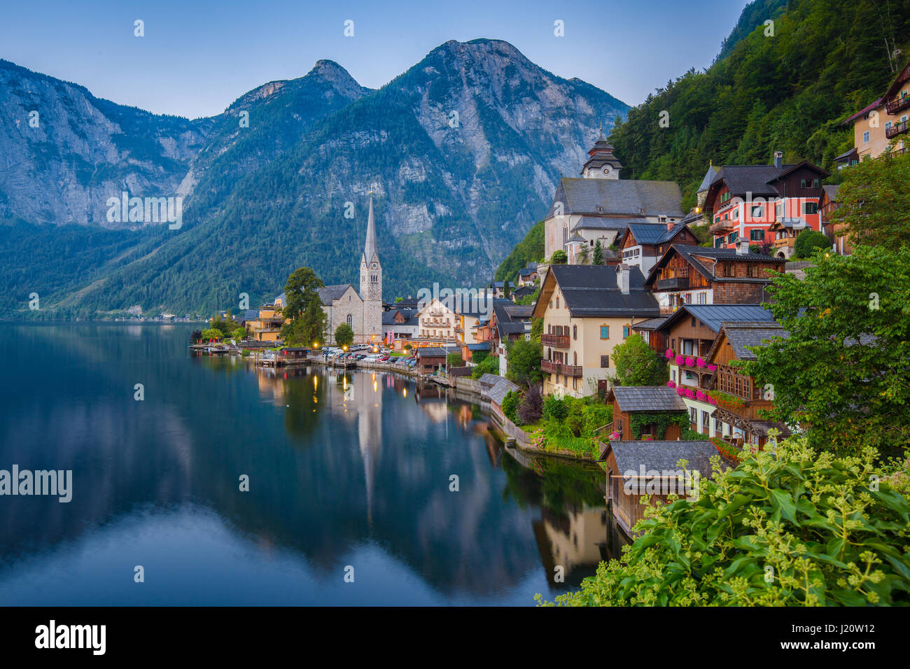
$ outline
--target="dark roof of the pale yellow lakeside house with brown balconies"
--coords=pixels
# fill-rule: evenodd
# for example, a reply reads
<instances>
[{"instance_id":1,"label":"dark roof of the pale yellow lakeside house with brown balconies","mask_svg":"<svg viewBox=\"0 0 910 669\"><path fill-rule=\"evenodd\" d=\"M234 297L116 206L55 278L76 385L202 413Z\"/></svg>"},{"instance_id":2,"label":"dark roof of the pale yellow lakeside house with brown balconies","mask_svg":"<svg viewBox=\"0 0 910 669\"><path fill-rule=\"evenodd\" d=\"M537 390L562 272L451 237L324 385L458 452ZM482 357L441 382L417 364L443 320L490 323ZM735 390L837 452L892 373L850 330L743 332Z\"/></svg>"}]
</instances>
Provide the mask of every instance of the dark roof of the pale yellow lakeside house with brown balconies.
<instances>
[{"instance_id":1,"label":"dark roof of the pale yellow lakeside house with brown balconies","mask_svg":"<svg viewBox=\"0 0 910 669\"><path fill-rule=\"evenodd\" d=\"M636 316L657 317L657 299L644 289L638 268L629 270L629 293L623 295L612 265L553 265L550 270L559 284L573 318Z\"/></svg>"}]
</instances>

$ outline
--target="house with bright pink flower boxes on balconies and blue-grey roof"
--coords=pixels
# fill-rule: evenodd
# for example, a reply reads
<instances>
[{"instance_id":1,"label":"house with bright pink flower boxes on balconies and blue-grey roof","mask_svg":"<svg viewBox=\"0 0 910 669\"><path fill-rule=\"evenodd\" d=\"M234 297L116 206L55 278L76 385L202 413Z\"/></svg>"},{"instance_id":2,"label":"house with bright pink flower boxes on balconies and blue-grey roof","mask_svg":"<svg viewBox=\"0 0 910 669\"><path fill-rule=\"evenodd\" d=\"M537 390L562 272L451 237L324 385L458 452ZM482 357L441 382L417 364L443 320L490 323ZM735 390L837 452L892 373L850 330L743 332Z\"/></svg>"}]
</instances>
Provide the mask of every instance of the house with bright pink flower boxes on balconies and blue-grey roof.
<instances>
[{"instance_id":1,"label":"house with bright pink flower boxes on balconies and blue-grey roof","mask_svg":"<svg viewBox=\"0 0 910 669\"><path fill-rule=\"evenodd\" d=\"M729 426L724 428L714 417L716 406L709 393L717 367L708 362L708 353L723 323L737 321L776 326L771 311L761 304L687 304L657 329L666 343L660 355L670 367L667 385L684 403L690 430L709 436L730 434Z\"/></svg>"}]
</instances>

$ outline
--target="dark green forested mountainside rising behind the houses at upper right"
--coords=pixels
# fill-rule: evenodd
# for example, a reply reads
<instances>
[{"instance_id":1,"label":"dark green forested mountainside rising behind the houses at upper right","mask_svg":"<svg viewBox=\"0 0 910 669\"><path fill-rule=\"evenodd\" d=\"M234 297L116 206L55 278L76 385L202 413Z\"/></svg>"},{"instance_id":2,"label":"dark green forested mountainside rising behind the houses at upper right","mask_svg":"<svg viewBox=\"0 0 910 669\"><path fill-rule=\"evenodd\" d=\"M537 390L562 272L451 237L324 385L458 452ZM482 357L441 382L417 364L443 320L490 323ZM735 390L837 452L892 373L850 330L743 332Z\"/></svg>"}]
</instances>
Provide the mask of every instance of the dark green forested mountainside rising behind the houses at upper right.
<instances>
[{"instance_id":1,"label":"dark green forested mountainside rising behind the houses at upper right","mask_svg":"<svg viewBox=\"0 0 910 669\"><path fill-rule=\"evenodd\" d=\"M882 96L910 55L910 0L791 0L780 8L747 5L738 26L753 32L737 38L734 30L727 55L659 89L613 128L624 177L675 180L688 207L710 160L768 164L781 150L785 163L811 160L836 182L834 157L854 141L844 119ZM765 35L772 17L773 35ZM670 127L653 122L662 112Z\"/></svg>"}]
</instances>

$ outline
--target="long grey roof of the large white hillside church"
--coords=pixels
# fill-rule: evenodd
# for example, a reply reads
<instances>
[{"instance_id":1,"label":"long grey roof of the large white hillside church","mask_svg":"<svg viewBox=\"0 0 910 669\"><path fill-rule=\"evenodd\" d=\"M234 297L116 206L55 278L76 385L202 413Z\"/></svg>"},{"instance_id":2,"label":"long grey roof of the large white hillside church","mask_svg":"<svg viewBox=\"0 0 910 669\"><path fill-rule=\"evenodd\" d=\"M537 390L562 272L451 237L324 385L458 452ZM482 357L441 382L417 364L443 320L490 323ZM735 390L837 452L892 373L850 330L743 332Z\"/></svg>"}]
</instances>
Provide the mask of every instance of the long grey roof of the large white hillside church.
<instances>
[{"instance_id":1,"label":"long grey roof of the large white hillside church","mask_svg":"<svg viewBox=\"0 0 910 669\"><path fill-rule=\"evenodd\" d=\"M628 214L682 217L682 192L674 181L562 177L547 218L560 214Z\"/></svg>"}]
</instances>

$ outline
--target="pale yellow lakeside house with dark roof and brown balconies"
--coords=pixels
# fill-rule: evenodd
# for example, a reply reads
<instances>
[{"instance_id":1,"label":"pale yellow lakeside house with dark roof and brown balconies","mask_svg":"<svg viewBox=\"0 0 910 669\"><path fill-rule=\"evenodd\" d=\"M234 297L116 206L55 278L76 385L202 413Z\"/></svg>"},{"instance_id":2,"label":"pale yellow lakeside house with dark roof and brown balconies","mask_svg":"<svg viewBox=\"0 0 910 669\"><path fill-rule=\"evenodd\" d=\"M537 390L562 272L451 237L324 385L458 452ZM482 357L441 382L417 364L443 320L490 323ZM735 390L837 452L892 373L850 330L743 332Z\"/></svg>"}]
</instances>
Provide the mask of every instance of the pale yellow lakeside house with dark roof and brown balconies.
<instances>
[{"instance_id":1,"label":"pale yellow lakeside house with dark roof and brown balconies","mask_svg":"<svg viewBox=\"0 0 910 669\"><path fill-rule=\"evenodd\" d=\"M638 268L552 265L533 311L543 319L544 394L605 395L616 373L613 348L632 334L632 325L660 315Z\"/></svg>"}]
</instances>

